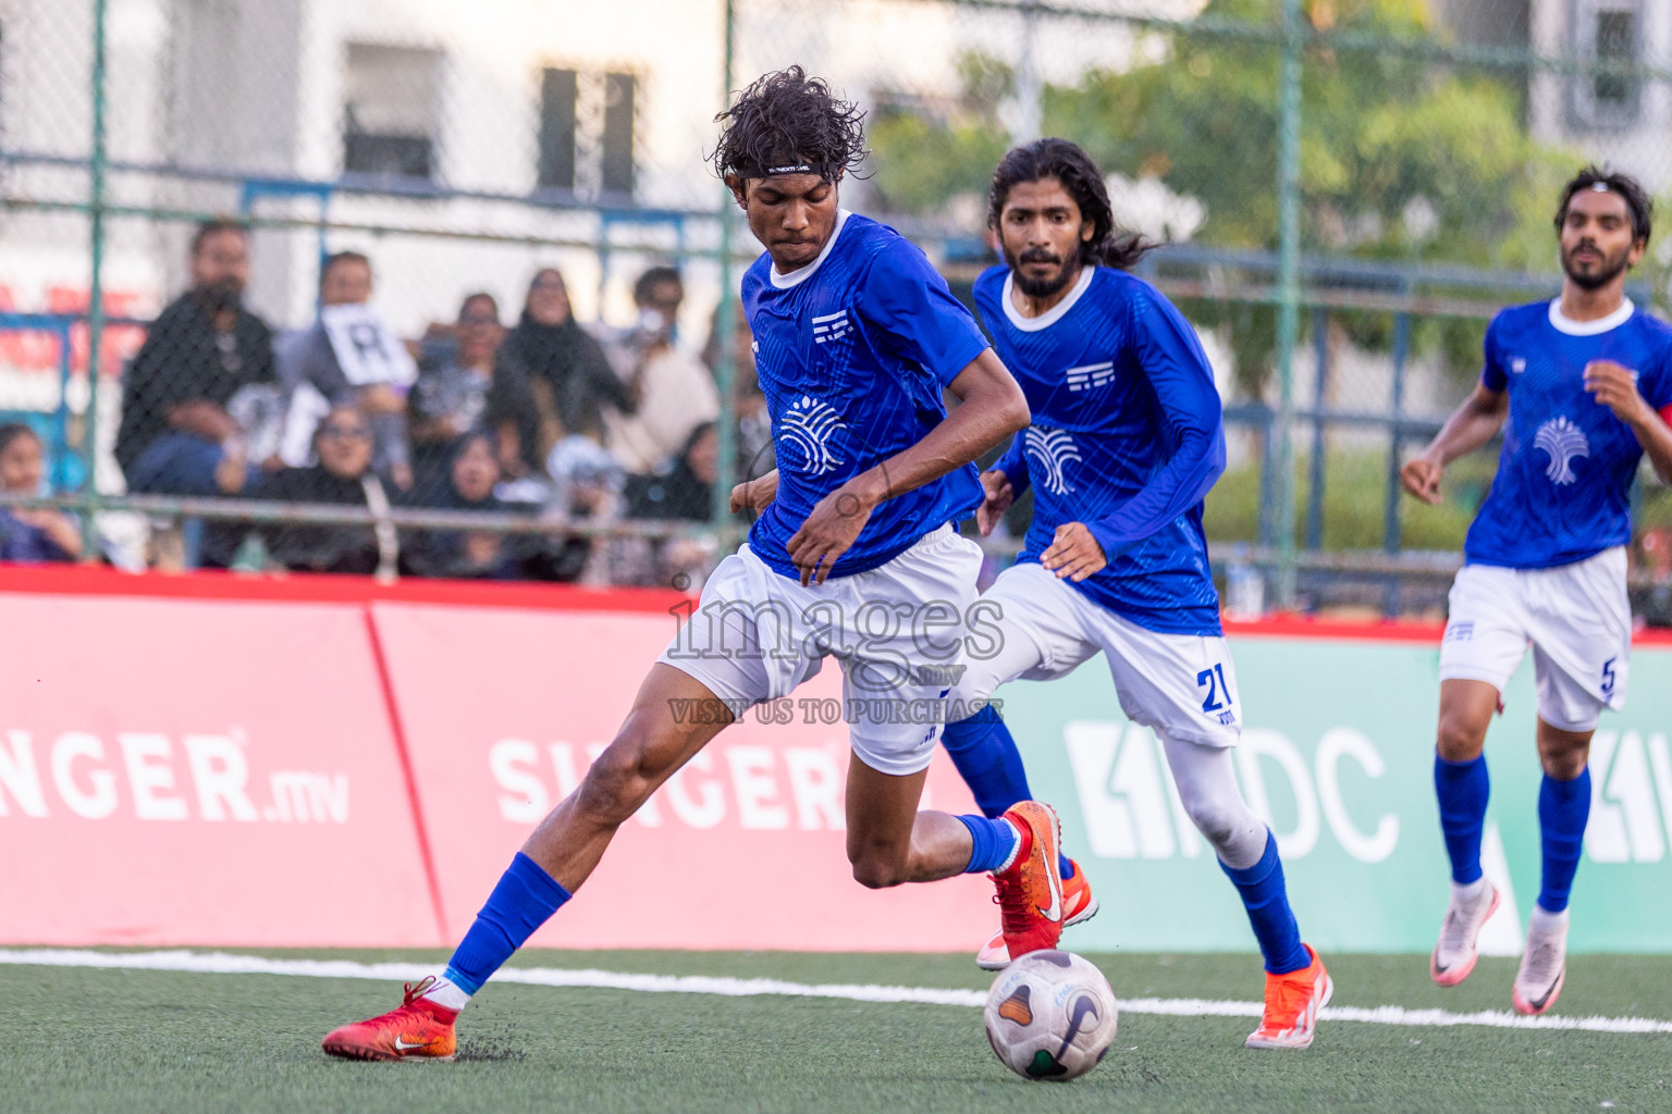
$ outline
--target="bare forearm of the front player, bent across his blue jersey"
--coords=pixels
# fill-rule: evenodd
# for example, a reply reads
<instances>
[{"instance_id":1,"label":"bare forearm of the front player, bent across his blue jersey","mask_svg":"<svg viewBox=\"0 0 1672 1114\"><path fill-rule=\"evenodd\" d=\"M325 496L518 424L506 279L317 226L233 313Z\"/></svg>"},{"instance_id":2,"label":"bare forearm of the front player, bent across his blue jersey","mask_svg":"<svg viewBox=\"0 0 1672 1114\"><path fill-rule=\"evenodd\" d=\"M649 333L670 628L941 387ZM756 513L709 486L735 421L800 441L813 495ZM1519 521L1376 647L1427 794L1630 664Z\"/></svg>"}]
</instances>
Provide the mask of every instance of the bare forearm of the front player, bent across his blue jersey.
<instances>
[{"instance_id":1,"label":"bare forearm of the front player, bent across his blue jersey","mask_svg":"<svg viewBox=\"0 0 1672 1114\"><path fill-rule=\"evenodd\" d=\"M831 491L801 523L788 548L803 585L824 583L883 499L970 464L1030 421L1027 396L993 349L983 349L946 389L961 403L946 421L910 449Z\"/></svg>"}]
</instances>

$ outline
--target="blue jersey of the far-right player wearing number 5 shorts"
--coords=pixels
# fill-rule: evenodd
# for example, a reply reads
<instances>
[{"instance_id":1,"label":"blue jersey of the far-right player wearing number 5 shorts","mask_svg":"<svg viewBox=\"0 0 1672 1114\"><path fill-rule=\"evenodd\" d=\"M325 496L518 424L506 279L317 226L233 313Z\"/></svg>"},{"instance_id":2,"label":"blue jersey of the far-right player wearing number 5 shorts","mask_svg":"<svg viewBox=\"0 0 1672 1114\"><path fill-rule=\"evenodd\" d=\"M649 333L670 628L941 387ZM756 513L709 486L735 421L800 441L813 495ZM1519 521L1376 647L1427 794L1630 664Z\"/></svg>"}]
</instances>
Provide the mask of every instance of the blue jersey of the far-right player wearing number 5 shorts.
<instances>
[{"instance_id":1,"label":"blue jersey of the far-right player wearing number 5 shorts","mask_svg":"<svg viewBox=\"0 0 1672 1114\"><path fill-rule=\"evenodd\" d=\"M1575 322L1560 302L1505 309L1486 329L1480 381L1510 392L1498 474L1463 543L1476 565L1552 568L1632 539L1630 491L1642 446L1585 391L1585 364L1610 359L1637 389L1672 404L1672 326L1627 301L1602 321Z\"/></svg>"}]
</instances>

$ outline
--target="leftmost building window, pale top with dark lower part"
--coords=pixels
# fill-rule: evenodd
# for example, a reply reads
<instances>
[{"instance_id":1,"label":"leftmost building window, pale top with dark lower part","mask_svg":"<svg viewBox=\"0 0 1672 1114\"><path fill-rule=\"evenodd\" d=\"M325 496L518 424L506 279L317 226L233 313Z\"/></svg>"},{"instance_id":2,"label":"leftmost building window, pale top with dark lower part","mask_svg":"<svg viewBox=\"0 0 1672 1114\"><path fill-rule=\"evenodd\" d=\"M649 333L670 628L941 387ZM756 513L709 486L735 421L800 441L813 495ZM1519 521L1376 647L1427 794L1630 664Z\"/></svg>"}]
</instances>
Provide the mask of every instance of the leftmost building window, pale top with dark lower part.
<instances>
[{"instance_id":1,"label":"leftmost building window, pale top with dark lower part","mask_svg":"<svg viewBox=\"0 0 1672 1114\"><path fill-rule=\"evenodd\" d=\"M435 177L440 77L440 52L348 43L343 172Z\"/></svg>"}]
</instances>

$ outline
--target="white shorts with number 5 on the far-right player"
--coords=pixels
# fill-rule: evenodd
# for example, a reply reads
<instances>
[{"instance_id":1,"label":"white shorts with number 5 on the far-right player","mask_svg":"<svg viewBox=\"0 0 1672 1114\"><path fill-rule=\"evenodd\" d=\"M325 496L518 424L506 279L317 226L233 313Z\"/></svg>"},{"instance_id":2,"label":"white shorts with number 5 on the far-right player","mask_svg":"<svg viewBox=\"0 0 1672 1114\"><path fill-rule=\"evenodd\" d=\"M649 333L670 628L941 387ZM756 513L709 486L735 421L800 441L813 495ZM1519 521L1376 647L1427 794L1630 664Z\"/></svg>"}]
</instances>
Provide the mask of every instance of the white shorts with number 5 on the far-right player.
<instances>
[{"instance_id":1,"label":"white shorts with number 5 on the far-right player","mask_svg":"<svg viewBox=\"0 0 1672 1114\"><path fill-rule=\"evenodd\" d=\"M1622 708L1632 653L1625 549L1557 568L1465 565L1451 585L1440 680L1486 681L1501 693L1528 643L1540 720L1590 732L1603 708Z\"/></svg>"}]
</instances>

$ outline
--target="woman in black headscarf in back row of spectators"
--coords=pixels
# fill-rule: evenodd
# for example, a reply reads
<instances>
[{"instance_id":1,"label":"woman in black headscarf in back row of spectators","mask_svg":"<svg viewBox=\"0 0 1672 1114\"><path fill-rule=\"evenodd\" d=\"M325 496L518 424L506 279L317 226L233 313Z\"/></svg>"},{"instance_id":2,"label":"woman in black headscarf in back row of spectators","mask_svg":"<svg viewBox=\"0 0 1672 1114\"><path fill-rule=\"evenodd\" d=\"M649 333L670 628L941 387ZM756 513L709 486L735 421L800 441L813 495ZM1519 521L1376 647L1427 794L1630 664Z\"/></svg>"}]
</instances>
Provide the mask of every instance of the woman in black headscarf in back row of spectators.
<instances>
[{"instance_id":1,"label":"woman in black headscarf in back row of spectators","mask_svg":"<svg viewBox=\"0 0 1672 1114\"><path fill-rule=\"evenodd\" d=\"M538 471L563 438L604 444L604 409L632 414L637 399L570 312L568 287L553 267L535 274L522 321L493 362L488 416L505 469Z\"/></svg>"}]
</instances>

